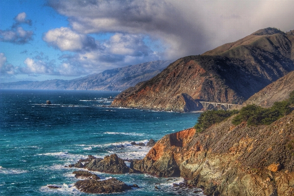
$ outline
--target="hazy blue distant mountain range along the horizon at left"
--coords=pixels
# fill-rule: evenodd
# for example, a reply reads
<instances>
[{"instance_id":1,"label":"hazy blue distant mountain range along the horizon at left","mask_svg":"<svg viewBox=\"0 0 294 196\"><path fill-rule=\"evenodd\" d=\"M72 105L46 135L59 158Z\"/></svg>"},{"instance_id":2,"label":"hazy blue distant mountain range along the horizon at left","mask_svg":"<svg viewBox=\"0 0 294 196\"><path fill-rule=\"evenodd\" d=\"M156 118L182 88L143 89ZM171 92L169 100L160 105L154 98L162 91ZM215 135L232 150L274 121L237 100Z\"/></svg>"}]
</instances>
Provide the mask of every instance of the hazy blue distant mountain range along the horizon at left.
<instances>
[{"instance_id":1,"label":"hazy blue distant mountain range along the horizon at left","mask_svg":"<svg viewBox=\"0 0 294 196\"><path fill-rule=\"evenodd\" d=\"M106 70L73 80L19 81L0 83L0 89L123 91L160 73L171 61L152 61Z\"/></svg>"}]
</instances>

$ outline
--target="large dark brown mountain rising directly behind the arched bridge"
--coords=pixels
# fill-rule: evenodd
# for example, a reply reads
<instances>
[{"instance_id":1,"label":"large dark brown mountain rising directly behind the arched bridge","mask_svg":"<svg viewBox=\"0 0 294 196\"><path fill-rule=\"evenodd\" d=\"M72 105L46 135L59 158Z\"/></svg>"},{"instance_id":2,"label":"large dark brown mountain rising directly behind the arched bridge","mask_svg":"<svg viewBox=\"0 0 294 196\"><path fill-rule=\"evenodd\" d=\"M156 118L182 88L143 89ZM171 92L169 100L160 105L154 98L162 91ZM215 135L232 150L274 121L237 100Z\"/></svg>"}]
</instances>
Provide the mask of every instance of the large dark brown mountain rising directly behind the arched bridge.
<instances>
[{"instance_id":1,"label":"large dark brown mountain rising directly behind the arched bridge","mask_svg":"<svg viewBox=\"0 0 294 196\"><path fill-rule=\"evenodd\" d=\"M293 34L269 27L202 55L180 58L123 91L112 106L187 112L200 110L199 100L242 104L294 70Z\"/></svg>"}]
</instances>

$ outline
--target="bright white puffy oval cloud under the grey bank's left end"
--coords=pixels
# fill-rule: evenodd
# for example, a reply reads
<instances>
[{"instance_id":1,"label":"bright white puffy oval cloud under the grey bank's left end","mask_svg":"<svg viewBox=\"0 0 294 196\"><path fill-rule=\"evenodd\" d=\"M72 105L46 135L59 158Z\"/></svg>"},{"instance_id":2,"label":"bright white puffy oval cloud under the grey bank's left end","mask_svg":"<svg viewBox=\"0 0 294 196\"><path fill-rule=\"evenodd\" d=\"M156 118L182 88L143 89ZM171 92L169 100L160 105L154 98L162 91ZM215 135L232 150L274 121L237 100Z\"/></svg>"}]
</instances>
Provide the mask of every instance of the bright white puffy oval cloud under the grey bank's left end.
<instances>
[{"instance_id":1,"label":"bright white puffy oval cloud under the grey bank's left end","mask_svg":"<svg viewBox=\"0 0 294 196\"><path fill-rule=\"evenodd\" d=\"M49 30L43 36L43 40L61 51L79 51L82 49L96 48L94 38L76 33L68 27L60 27Z\"/></svg>"}]
</instances>

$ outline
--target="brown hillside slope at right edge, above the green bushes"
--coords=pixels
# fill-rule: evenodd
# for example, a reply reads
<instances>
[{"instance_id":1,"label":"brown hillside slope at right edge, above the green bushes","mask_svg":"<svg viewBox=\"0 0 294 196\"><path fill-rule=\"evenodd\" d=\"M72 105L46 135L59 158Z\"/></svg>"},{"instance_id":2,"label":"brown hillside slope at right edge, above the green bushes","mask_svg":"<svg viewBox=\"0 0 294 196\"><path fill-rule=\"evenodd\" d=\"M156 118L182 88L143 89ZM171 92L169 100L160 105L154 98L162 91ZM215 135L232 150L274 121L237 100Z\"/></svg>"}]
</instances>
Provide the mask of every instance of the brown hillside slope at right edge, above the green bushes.
<instances>
[{"instance_id":1,"label":"brown hillside slope at right edge, above the green bushes","mask_svg":"<svg viewBox=\"0 0 294 196\"><path fill-rule=\"evenodd\" d=\"M272 82L258 93L248 98L243 105L255 104L262 107L271 107L276 101L289 98L294 90L294 71Z\"/></svg>"}]
</instances>

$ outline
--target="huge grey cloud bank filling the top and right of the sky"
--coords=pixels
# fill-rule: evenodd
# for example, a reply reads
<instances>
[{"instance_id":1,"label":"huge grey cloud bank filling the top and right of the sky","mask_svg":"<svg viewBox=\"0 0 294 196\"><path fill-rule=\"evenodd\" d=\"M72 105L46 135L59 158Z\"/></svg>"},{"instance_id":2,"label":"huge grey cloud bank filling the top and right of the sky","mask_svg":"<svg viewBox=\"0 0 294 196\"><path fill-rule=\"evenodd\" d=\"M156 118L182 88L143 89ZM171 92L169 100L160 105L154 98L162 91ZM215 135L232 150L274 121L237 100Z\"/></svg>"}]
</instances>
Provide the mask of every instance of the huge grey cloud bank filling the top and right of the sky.
<instances>
[{"instance_id":1,"label":"huge grey cloud bank filling the top and right of the sky","mask_svg":"<svg viewBox=\"0 0 294 196\"><path fill-rule=\"evenodd\" d=\"M49 6L79 33L161 39L167 58L203 53L261 28L294 28L293 0L49 0Z\"/></svg>"}]
</instances>

